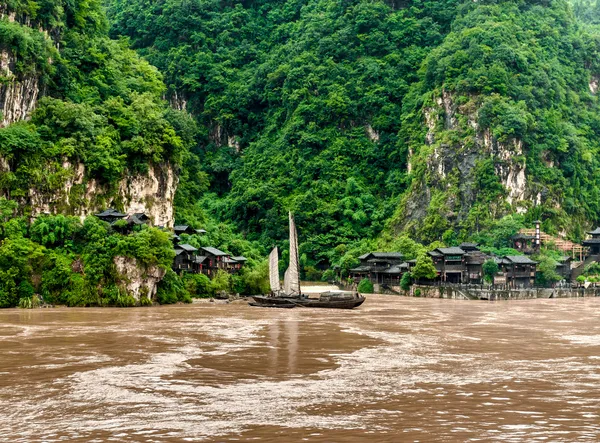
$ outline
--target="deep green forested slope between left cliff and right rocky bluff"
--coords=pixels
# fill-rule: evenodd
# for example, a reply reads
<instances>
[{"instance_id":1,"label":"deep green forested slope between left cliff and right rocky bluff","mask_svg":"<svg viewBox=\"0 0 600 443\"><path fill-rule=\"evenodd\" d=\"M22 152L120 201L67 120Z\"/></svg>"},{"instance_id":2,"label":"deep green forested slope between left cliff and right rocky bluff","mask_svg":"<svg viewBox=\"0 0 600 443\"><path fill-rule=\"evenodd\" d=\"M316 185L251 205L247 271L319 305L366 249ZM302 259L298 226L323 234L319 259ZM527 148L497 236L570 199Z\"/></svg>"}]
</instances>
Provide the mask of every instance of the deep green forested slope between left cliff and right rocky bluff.
<instances>
[{"instance_id":1,"label":"deep green forested slope between left cliff and right rocky bluff","mask_svg":"<svg viewBox=\"0 0 600 443\"><path fill-rule=\"evenodd\" d=\"M265 245L293 210L314 265L375 237L405 189L403 97L459 2L406 3L115 0L109 16L197 119L201 206Z\"/></svg>"}]
</instances>

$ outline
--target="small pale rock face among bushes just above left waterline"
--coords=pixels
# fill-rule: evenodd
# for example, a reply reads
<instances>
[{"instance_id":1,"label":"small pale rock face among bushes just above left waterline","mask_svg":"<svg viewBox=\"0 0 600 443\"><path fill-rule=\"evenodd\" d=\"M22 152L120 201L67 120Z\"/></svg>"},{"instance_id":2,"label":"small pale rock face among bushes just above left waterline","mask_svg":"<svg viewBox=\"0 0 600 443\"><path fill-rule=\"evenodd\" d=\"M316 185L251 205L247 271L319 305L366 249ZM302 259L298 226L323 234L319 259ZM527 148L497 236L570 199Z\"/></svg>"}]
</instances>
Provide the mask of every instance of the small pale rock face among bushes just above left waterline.
<instances>
[{"instance_id":1,"label":"small pale rock face among bushes just above left waterline","mask_svg":"<svg viewBox=\"0 0 600 443\"><path fill-rule=\"evenodd\" d=\"M115 257L114 263L120 275L120 284L129 295L139 301L140 297L156 297L158 284L165 276L165 270L157 266L140 266L135 258Z\"/></svg>"}]
</instances>

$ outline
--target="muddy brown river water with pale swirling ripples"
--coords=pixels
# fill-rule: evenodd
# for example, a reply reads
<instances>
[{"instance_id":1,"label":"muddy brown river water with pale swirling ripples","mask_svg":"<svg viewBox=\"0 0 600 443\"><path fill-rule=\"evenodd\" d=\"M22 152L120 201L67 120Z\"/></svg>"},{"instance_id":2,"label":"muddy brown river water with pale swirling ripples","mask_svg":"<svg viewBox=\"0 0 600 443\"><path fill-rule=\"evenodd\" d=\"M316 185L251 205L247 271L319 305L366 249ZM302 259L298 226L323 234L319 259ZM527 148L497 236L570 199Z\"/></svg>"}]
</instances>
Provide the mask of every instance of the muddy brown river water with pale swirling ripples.
<instances>
[{"instance_id":1,"label":"muddy brown river water with pale swirling ripples","mask_svg":"<svg viewBox=\"0 0 600 443\"><path fill-rule=\"evenodd\" d=\"M599 441L600 299L0 311L1 442Z\"/></svg>"}]
</instances>

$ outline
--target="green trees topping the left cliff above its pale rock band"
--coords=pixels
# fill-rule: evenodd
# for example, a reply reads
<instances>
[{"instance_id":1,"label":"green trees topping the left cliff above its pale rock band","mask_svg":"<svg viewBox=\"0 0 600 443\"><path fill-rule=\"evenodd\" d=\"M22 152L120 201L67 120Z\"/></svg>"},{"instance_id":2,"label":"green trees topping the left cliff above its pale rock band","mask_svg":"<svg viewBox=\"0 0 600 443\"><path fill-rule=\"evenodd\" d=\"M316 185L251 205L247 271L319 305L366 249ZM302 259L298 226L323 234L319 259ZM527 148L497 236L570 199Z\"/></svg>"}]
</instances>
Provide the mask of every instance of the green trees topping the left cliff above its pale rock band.
<instances>
[{"instance_id":1,"label":"green trees topping the left cliff above its pale rock band","mask_svg":"<svg viewBox=\"0 0 600 443\"><path fill-rule=\"evenodd\" d=\"M27 203L30 191L61 190L74 175L65 165L83 164L86 179L111 185L150 164L183 162L188 146L175 127L186 117L163 102L156 68L108 38L99 1L11 1L0 10L0 50L12 61L3 81L38 78L44 96L30 121L0 129L0 194ZM86 204L72 197L71 206Z\"/></svg>"}]
</instances>

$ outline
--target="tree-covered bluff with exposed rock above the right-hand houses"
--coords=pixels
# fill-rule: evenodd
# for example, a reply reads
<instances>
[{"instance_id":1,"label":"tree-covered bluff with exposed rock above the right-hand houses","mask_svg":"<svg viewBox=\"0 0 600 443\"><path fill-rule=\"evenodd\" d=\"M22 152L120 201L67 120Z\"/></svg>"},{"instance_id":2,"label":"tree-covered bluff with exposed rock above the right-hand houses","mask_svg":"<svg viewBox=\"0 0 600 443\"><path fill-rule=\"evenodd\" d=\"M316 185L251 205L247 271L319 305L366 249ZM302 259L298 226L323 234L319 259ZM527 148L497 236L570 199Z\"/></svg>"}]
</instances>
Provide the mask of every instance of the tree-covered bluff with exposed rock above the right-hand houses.
<instances>
[{"instance_id":1,"label":"tree-covered bluff with exposed rock above the right-hand houses","mask_svg":"<svg viewBox=\"0 0 600 443\"><path fill-rule=\"evenodd\" d=\"M547 232L581 238L600 219L599 42L564 1L465 3L404 103L415 157L400 225L428 240L464 239L520 210ZM435 155L455 168L432 171ZM503 169L504 179L526 172L512 183L524 201L505 200ZM425 192L428 211L407 223L411 199Z\"/></svg>"}]
</instances>

